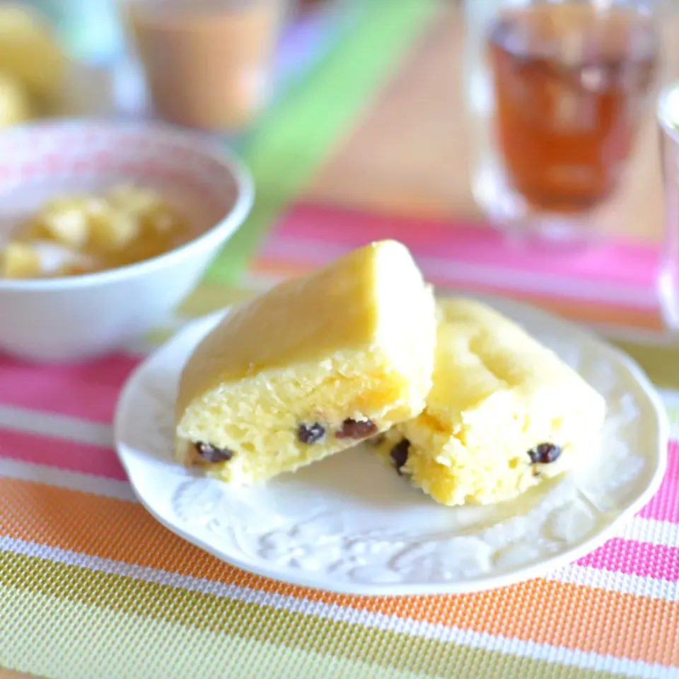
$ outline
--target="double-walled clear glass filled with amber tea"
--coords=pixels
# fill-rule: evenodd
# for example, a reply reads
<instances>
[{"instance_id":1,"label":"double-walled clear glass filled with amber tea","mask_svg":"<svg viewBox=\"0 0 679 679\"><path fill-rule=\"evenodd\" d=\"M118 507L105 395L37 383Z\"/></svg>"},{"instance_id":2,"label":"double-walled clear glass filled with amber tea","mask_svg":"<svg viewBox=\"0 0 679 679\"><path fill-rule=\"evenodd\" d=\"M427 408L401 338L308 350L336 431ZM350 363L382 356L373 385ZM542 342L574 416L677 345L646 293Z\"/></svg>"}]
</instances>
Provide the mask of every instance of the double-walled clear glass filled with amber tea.
<instances>
[{"instance_id":1,"label":"double-walled clear glass filled with amber tea","mask_svg":"<svg viewBox=\"0 0 679 679\"><path fill-rule=\"evenodd\" d=\"M467 0L472 191L492 224L589 240L620 187L660 62L654 0Z\"/></svg>"}]
</instances>

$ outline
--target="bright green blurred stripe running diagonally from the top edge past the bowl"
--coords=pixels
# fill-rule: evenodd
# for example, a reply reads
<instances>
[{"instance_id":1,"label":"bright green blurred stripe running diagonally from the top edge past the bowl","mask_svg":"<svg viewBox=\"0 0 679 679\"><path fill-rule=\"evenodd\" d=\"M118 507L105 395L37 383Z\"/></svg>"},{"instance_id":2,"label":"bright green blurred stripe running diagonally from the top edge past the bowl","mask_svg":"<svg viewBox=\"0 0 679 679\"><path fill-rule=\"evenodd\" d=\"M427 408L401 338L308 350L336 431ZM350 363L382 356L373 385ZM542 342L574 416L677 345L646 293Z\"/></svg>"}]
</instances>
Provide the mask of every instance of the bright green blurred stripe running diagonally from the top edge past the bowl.
<instances>
[{"instance_id":1,"label":"bright green blurred stripe running diagonally from the top edge past the bowl","mask_svg":"<svg viewBox=\"0 0 679 679\"><path fill-rule=\"evenodd\" d=\"M255 178L252 214L207 274L233 283L275 219L356 120L436 3L373 0L352 32L266 115L243 160Z\"/></svg>"}]
</instances>

